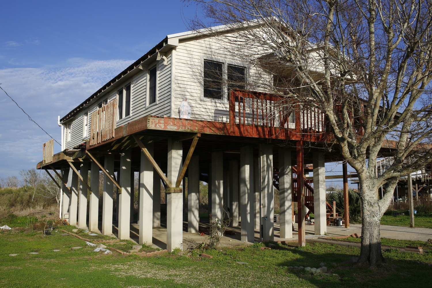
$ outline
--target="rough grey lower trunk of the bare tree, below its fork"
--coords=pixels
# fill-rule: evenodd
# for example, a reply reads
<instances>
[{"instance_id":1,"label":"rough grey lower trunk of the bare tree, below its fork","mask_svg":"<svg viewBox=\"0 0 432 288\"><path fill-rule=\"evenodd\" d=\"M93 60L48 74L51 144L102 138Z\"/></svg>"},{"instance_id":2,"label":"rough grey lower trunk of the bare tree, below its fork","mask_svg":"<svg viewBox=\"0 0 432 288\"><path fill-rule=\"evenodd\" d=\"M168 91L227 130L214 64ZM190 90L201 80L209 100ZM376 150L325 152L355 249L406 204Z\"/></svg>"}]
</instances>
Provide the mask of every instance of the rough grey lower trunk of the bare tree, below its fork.
<instances>
[{"instance_id":1,"label":"rough grey lower trunk of the bare tree, below its fork","mask_svg":"<svg viewBox=\"0 0 432 288\"><path fill-rule=\"evenodd\" d=\"M368 193L368 196L373 195L373 192L371 192ZM358 262L359 265L371 267L384 262L381 252L380 232L382 212L378 206L378 199L373 198L372 196L368 197L368 199L362 199L362 248Z\"/></svg>"}]
</instances>

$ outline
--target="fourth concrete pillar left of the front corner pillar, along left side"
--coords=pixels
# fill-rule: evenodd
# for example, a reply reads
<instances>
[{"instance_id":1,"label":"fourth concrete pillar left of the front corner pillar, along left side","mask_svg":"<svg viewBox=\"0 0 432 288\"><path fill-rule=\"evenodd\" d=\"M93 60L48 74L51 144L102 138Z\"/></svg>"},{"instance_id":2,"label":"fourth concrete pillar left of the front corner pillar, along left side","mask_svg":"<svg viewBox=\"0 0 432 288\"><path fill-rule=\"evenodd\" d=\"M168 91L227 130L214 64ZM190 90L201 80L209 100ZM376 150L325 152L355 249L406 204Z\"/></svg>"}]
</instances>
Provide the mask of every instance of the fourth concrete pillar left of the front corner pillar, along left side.
<instances>
[{"instance_id":1,"label":"fourth concrete pillar left of the front corner pillar, along left side","mask_svg":"<svg viewBox=\"0 0 432 288\"><path fill-rule=\"evenodd\" d=\"M90 168L90 188L92 194L89 195L89 230L98 231L99 222L99 166L92 162Z\"/></svg>"}]
</instances>

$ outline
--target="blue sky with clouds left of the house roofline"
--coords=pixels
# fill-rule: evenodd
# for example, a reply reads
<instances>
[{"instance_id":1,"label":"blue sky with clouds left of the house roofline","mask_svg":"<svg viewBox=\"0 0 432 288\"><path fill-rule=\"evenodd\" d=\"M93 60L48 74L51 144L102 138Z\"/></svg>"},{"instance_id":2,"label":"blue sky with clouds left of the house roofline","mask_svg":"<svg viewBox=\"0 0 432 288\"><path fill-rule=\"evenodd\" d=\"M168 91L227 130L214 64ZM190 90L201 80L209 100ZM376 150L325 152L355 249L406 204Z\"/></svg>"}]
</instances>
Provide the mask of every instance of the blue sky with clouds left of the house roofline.
<instances>
[{"instance_id":1,"label":"blue sky with clouds left of the house roofline","mask_svg":"<svg viewBox=\"0 0 432 288\"><path fill-rule=\"evenodd\" d=\"M166 35L187 31L187 18L198 11L181 0L0 3L1 87L59 142L57 115ZM0 92L0 177L19 176L41 161L42 143L50 137Z\"/></svg>"}]
</instances>

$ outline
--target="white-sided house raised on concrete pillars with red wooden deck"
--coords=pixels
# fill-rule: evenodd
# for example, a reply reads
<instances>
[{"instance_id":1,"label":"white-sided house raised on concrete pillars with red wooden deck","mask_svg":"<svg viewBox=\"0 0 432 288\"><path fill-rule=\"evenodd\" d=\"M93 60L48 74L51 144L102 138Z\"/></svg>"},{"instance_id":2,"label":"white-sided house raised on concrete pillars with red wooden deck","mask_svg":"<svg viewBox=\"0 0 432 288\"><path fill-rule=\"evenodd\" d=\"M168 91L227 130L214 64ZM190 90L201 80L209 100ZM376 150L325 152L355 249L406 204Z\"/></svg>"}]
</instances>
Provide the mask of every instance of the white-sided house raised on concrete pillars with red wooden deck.
<instances>
[{"instance_id":1,"label":"white-sided house raised on concrete pillars with red wooden deck","mask_svg":"<svg viewBox=\"0 0 432 288\"><path fill-rule=\"evenodd\" d=\"M225 26L214 29L235 33ZM118 238L128 239L138 193L139 241L150 244L152 228L160 225L162 179L171 251L182 247L184 206L187 231L198 231L203 180L209 183L209 213L222 221L228 212L233 227L241 221L242 241L256 241L255 230L264 240L274 239L274 187L280 191L280 238L292 237L293 202L300 215L305 207L314 212L315 234L326 232L333 208L325 200L324 162L341 156L326 154L330 133L325 115L299 109L289 98L249 91L251 68L225 51L214 35L168 35L60 119L62 151L44 154L37 168L54 170L62 178L62 217L108 235L114 223ZM99 199L100 171L104 185ZM305 177L309 171L312 179ZM131 188L134 172L140 172L139 191ZM113 193L118 211L113 211ZM300 217L303 244L304 234Z\"/></svg>"}]
</instances>

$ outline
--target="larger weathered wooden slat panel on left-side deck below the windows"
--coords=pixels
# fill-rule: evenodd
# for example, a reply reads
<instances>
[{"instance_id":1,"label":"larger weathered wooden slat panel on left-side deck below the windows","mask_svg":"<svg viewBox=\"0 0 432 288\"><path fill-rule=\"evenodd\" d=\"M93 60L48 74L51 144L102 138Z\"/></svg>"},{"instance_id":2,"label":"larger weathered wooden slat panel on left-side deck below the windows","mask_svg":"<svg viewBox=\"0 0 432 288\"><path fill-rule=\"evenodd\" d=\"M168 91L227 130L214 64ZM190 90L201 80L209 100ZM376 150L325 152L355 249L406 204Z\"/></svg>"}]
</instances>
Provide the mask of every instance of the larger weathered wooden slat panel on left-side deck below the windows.
<instances>
[{"instance_id":1,"label":"larger weathered wooden slat panel on left-side deck below the windows","mask_svg":"<svg viewBox=\"0 0 432 288\"><path fill-rule=\"evenodd\" d=\"M114 99L92 113L90 146L114 138L114 129L117 122L116 112L117 99Z\"/></svg>"}]
</instances>

